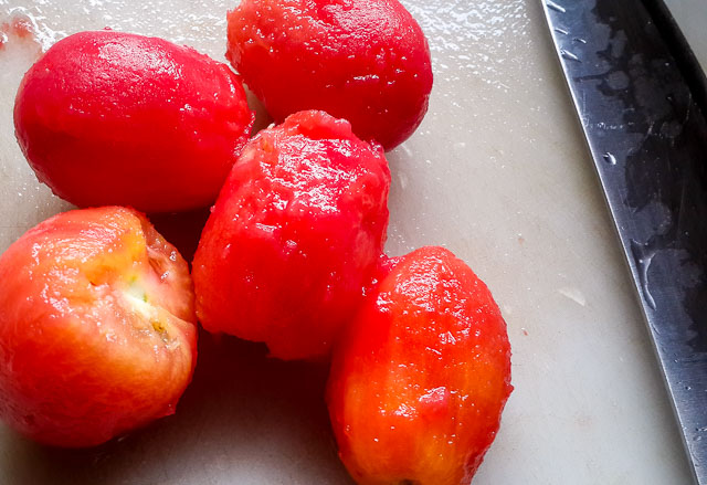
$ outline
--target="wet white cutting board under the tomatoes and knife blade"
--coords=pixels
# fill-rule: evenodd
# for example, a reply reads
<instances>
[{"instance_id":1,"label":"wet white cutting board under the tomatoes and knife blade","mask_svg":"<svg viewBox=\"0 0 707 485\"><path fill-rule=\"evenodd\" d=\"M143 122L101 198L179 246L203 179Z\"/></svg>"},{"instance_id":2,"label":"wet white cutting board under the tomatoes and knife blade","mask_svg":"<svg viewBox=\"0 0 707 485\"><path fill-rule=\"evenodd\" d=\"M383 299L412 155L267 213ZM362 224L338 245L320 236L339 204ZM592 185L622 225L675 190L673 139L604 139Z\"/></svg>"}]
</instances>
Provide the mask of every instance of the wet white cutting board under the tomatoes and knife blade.
<instances>
[{"instance_id":1,"label":"wet white cutting board under the tomatoes and knife blade","mask_svg":"<svg viewBox=\"0 0 707 485\"><path fill-rule=\"evenodd\" d=\"M42 46L112 27L223 60L235 1L0 0L0 23L30 14ZM494 291L514 350L516 390L474 483L687 484L539 1L405 4L429 36L435 85L423 125L389 155L388 250L443 244L466 260ZM0 251L68 208L36 182L13 137L13 95L38 52L12 35L0 50ZM177 415L98 449L46 449L0 425L0 483L350 483L321 400L326 369L209 336L199 359Z\"/></svg>"}]
</instances>

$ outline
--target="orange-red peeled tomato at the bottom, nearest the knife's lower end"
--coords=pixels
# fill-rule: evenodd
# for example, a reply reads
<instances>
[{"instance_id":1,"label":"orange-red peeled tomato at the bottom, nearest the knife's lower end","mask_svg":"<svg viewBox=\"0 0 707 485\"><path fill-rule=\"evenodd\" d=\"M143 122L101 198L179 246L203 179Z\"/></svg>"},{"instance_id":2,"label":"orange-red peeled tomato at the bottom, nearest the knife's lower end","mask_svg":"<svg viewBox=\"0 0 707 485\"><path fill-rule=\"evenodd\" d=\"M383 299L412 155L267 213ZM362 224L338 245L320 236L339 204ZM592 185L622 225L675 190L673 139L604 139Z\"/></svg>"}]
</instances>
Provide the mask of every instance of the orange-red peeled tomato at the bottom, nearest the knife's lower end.
<instances>
[{"instance_id":1,"label":"orange-red peeled tomato at the bottom, nearest the knife's lower end","mask_svg":"<svg viewBox=\"0 0 707 485\"><path fill-rule=\"evenodd\" d=\"M344 331L327 399L359 484L467 484L511 391L506 324L450 251L399 259Z\"/></svg>"}]
</instances>

